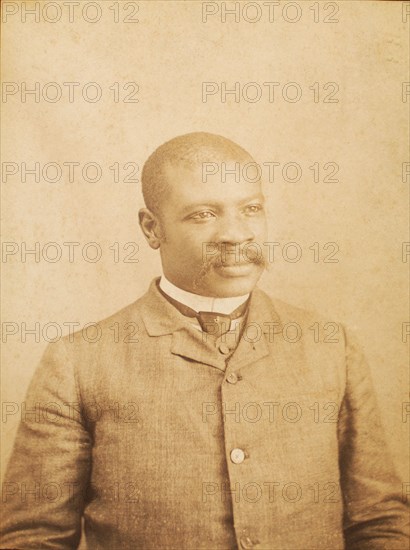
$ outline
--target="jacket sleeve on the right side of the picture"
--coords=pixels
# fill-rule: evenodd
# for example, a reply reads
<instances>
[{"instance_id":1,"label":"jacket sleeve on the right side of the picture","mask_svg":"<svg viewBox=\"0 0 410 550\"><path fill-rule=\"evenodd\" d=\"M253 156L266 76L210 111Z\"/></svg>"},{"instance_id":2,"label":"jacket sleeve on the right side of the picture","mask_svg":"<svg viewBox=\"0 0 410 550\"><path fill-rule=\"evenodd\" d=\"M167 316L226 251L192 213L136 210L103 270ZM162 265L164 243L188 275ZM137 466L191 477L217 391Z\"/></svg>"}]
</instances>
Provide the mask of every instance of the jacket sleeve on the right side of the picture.
<instances>
[{"instance_id":1,"label":"jacket sleeve on the right side of the picture","mask_svg":"<svg viewBox=\"0 0 410 550\"><path fill-rule=\"evenodd\" d=\"M410 548L402 483L385 440L368 365L349 333L339 449L346 550Z\"/></svg>"}]
</instances>

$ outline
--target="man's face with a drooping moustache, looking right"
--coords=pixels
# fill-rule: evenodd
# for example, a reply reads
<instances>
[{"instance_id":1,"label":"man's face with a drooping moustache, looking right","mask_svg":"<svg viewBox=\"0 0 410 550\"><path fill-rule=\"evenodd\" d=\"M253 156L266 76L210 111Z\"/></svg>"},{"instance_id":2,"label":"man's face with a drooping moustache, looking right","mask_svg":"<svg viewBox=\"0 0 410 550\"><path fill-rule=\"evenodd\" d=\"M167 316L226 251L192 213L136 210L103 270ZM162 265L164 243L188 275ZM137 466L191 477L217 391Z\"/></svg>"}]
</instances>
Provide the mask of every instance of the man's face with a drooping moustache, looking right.
<instances>
[{"instance_id":1,"label":"man's face with a drooping moustache, looking right","mask_svg":"<svg viewBox=\"0 0 410 550\"><path fill-rule=\"evenodd\" d=\"M170 183L160 206L165 276L203 296L251 292L264 269L267 227L260 183L242 177L236 182L234 175L223 182L219 171L203 181L202 165L170 164L165 176Z\"/></svg>"}]
</instances>

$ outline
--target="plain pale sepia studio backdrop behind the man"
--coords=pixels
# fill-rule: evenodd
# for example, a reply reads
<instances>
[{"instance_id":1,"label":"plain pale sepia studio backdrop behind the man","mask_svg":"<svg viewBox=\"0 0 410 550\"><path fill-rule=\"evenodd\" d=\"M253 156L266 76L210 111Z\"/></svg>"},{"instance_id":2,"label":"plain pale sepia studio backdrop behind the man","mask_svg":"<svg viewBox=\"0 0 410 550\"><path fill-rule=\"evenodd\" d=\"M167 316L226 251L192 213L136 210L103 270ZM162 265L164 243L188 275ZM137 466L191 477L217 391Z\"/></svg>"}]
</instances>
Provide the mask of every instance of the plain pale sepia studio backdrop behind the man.
<instances>
[{"instance_id":1,"label":"plain pale sepia studio backdrop behind the man","mask_svg":"<svg viewBox=\"0 0 410 550\"><path fill-rule=\"evenodd\" d=\"M260 286L356 331L407 476L405 4L3 3L3 470L47 340L160 274L137 220L147 156L207 131L263 166L280 244Z\"/></svg>"}]
</instances>

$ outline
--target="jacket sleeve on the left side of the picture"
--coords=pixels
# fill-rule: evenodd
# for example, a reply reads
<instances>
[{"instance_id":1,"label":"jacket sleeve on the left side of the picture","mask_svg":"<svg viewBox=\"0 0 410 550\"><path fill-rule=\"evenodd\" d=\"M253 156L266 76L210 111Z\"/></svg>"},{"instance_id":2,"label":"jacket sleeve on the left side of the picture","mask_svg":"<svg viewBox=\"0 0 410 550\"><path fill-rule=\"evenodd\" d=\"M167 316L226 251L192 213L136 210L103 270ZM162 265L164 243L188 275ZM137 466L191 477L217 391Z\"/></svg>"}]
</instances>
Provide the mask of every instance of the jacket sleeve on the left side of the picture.
<instances>
[{"instance_id":1,"label":"jacket sleeve on the left side of the picture","mask_svg":"<svg viewBox=\"0 0 410 550\"><path fill-rule=\"evenodd\" d=\"M21 403L2 486L0 548L77 548L91 441L64 340L49 344Z\"/></svg>"}]
</instances>

